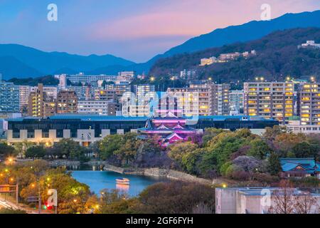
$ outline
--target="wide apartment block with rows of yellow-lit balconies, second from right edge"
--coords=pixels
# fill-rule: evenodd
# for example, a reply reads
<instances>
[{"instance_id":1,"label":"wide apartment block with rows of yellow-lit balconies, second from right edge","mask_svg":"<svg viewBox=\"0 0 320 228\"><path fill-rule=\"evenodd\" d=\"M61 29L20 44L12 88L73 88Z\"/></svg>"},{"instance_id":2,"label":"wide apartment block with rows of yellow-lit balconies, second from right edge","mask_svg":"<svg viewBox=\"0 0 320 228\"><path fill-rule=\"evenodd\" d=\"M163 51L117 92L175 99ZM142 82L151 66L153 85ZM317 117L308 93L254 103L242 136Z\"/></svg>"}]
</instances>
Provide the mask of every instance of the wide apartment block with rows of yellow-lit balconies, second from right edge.
<instances>
[{"instance_id":1,"label":"wide apartment block with rows of yellow-lit balconies, second from right edge","mask_svg":"<svg viewBox=\"0 0 320 228\"><path fill-rule=\"evenodd\" d=\"M244 113L286 123L294 114L294 83L244 83Z\"/></svg>"}]
</instances>

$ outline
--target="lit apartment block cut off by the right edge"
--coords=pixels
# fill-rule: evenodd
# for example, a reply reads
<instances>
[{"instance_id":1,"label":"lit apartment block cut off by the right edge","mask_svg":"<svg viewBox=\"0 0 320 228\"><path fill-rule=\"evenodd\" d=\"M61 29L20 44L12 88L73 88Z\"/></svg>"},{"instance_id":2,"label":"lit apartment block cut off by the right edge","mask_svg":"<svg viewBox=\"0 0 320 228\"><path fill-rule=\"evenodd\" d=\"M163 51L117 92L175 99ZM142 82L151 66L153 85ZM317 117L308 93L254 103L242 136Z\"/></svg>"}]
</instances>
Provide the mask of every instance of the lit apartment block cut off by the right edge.
<instances>
[{"instance_id":1,"label":"lit apartment block cut off by the right edge","mask_svg":"<svg viewBox=\"0 0 320 228\"><path fill-rule=\"evenodd\" d=\"M320 125L320 84L305 83L300 86L297 110L301 125Z\"/></svg>"}]
</instances>

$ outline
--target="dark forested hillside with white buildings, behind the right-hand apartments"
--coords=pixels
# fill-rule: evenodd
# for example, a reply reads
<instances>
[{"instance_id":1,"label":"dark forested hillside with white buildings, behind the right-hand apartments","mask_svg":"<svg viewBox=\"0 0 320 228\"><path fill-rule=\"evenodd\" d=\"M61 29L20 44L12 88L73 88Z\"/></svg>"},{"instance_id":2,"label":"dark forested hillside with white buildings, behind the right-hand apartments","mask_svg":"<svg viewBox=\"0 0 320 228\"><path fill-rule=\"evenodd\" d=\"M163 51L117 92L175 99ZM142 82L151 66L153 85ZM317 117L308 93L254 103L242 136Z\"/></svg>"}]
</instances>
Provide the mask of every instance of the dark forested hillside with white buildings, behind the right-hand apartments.
<instances>
[{"instance_id":1,"label":"dark forested hillside with white buildings, behind the right-hand apartments","mask_svg":"<svg viewBox=\"0 0 320 228\"><path fill-rule=\"evenodd\" d=\"M320 43L320 28L296 28L276 31L264 38L246 43L234 43L220 48L208 48L196 53L183 53L162 58L151 68L150 75L179 75L183 69L196 69L198 78L213 77L220 82L248 81L257 76L267 80L282 80L287 76L317 76L320 74L320 49L298 49L307 40ZM256 50L257 56L239 58L228 63L199 66L201 58L218 57L220 53Z\"/></svg>"}]
</instances>

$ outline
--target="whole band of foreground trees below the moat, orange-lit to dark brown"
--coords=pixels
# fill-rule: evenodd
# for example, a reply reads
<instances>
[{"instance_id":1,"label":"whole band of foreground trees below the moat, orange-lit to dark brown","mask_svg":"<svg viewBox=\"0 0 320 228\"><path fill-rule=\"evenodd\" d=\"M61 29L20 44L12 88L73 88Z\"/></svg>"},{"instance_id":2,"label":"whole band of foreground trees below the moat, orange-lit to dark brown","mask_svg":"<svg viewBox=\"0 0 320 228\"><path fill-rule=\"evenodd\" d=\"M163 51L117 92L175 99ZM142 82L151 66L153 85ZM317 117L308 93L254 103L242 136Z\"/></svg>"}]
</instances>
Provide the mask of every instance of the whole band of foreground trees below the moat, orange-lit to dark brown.
<instances>
[{"instance_id":1,"label":"whole band of foreground trees below the moat, orange-lit to dark brown","mask_svg":"<svg viewBox=\"0 0 320 228\"><path fill-rule=\"evenodd\" d=\"M47 204L48 190L58 192L59 214L190 214L214 213L215 191L208 185L187 182L160 182L146 188L137 197L129 197L119 190L90 192L90 188L77 180L64 168L50 168L44 160L0 164L0 185L19 185L19 201L29 207L28 197L41 195L42 209L54 208ZM161 194L159 194L161 192ZM99 195L98 195L99 194ZM12 195L11 197L14 197ZM0 210L4 214L20 214L22 211Z\"/></svg>"}]
</instances>

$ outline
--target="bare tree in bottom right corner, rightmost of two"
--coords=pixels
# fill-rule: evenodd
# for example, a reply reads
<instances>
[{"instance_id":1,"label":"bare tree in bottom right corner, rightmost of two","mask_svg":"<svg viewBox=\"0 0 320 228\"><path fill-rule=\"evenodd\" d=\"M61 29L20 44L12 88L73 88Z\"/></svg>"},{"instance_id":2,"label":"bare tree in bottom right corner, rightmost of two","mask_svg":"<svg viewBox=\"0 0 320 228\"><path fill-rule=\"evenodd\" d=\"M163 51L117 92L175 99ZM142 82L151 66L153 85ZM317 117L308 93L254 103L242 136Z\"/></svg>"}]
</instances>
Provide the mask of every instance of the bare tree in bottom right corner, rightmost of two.
<instances>
[{"instance_id":1,"label":"bare tree in bottom right corner, rightmost of two","mask_svg":"<svg viewBox=\"0 0 320 228\"><path fill-rule=\"evenodd\" d=\"M319 212L318 200L310 192L303 192L295 199L295 212L297 214L317 214Z\"/></svg>"}]
</instances>

